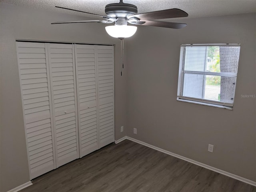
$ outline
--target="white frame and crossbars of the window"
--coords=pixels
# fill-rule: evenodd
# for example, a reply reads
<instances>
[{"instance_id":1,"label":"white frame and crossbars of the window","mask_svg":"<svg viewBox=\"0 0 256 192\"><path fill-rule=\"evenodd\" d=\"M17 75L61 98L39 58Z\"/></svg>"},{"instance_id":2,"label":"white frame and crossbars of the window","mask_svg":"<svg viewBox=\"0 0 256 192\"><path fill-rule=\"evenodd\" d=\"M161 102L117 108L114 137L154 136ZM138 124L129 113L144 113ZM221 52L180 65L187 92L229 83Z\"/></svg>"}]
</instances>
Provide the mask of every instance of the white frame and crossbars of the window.
<instances>
[{"instance_id":1,"label":"white frame and crossbars of the window","mask_svg":"<svg viewBox=\"0 0 256 192\"><path fill-rule=\"evenodd\" d=\"M188 103L194 103L194 104L200 104L205 106L212 106L216 108L224 108L228 110L233 110L234 106L234 98L233 102L227 103L227 102L220 102L220 101L214 101L214 100L208 100L208 99L202 99L202 98L194 98L194 97L188 97L183 96L184 92L184 76L185 74L197 74L197 75L203 75L204 76L204 82L202 86L202 97L205 92L205 76L220 76L220 78L223 77L232 77L235 78L235 84L234 84L234 96L235 96L235 90L236 90L236 78L237 73L230 73L230 72L208 72L208 71L196 71L196 70L184 70L184 63L185 63L185 57L186 57L186 47L196 47L196 46L236 46L240 47L240 44L181 44L180 45L180 62L179 62L179 74L178 74L178 90L177 90L177 101L181 102L188 102ZM238 65L239 65L239 58L240 58L240 50L239 50L239 56L238 56ZM204 64L204 68L206 67L206 63ZM181 77L183 79L181 79ZM182 83L181 83L182 81Z\"/></svg>"}]
</instances>

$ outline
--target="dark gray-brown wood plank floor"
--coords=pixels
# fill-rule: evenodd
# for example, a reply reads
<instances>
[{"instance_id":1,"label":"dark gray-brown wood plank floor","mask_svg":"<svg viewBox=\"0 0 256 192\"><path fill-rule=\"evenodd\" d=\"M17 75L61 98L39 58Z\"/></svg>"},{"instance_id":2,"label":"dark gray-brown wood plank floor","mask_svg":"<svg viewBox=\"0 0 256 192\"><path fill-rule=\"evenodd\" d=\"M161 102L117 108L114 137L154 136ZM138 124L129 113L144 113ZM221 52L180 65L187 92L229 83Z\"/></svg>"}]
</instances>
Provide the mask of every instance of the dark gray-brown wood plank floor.
<instances>
[{"instance_id":1,"label":"dark gray-brown wood plank floor","mask_svg":"<svg viewBox=\"0 0 256 192\"><path fill-rule=\"evenodd\" d=\"M124 140L32 181L22 192L256 192L256 187Z\"/></svg>"}]
</instances>

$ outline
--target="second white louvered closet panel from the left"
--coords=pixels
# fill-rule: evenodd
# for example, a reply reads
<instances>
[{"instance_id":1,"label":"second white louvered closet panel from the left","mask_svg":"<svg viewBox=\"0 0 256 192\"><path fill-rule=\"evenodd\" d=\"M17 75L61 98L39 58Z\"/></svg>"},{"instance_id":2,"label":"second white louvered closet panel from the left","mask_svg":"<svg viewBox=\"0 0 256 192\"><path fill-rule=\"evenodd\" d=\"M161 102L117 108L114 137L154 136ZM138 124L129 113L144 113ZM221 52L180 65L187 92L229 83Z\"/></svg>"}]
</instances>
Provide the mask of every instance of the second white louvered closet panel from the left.
<instances>
[{"instance_id":1,"label":"second white louvered closet panel from the left","mask_svg":"<svg viewBox=\"0 0 256 192\"><path fill-rule=\"evenodd\" d=\"M48 44L56 164L79 158L73 44Z\"/></svg>"}]
</instances>

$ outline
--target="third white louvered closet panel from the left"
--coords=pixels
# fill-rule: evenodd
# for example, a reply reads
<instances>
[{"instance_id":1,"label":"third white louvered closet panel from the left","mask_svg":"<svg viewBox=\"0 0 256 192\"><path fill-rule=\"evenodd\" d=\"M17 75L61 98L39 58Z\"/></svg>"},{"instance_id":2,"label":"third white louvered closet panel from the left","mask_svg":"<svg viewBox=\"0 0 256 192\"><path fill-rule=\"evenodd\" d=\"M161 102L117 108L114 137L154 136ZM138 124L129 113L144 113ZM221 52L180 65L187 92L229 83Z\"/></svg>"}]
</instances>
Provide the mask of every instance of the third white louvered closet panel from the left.
<instances>
[{"instance_id":1,"label":"third white louvered closet panel from the left","mask_svg":"<svg viewBox=\"0 0 256 192\"><path fill-rule=\"evenodd\" d=\"M98 149L97 86L94 45L75 45L80 157Z\"/></svg>"}]
</instances>

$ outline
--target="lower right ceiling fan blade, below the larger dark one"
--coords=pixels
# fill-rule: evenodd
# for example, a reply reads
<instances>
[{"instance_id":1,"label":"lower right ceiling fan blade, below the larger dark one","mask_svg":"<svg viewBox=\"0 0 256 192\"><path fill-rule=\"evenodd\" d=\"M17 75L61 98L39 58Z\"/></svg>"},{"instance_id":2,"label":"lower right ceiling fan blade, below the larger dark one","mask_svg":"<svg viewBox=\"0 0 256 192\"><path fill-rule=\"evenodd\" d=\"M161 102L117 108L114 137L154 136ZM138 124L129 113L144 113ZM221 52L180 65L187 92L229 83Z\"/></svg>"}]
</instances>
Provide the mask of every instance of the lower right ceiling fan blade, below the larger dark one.
<instances>
[{"instance_id":1,"label":"lower right ceiling fan blade, below the larger dark one","mask_svg":"<svg viewBox=\"0 0 256 192\"><path fill-rule=\"evenodd\" d=\"M156 27L166 27L172 29L181 29L187 26L185 23L173 23L173 22L165 22L165 21L135 21L130 22L131 24L135 25L146 25L146 26L156 26Z\"/></svg>"}]
</instances>

